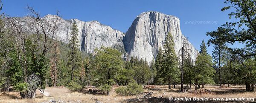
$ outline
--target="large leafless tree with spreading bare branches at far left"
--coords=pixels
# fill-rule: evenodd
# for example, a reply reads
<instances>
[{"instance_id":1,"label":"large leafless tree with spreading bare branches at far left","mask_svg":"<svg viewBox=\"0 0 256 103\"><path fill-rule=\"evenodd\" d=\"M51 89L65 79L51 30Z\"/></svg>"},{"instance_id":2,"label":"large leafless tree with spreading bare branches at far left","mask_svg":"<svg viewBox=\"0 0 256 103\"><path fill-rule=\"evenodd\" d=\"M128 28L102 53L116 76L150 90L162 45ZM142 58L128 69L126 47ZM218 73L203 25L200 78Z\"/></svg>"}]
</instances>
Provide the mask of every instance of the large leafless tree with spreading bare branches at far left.
<instances>
[{"instance_id":1,"label":"large leafless tree with spreading bare branches at far left","mask_svg":"<svg viewBox=\"0 0 256 103\"><path fill-rule=\"evenodd\" d=\"M24 75L24 82L29 83L29 72L28 72L28 58L26 54L29 51L26 51L26 40L31 40L35 44L34 49L32 50L32 56L43 56L45 57L47 52L57 43L56 33L58 27L61 25L60 17L55 15L54 18L48 19L45 17L40 17L40 15L35 12L32 7L28 7L31 12L29 17L6 17L7 28L10 29L10 34L14 37L13 42L15 43L15 49L17 52L18 61ZM31 51L30 51L31 52ZM38 58L33 58L34 61L38 61ZM40 61L40 60L39 60ZM42 68L36 68L42 69ZM32 76L32 75L31 75ZM30 77L31 77L30 76ZM44 79L39 75L34 75L40 80ZM38 80L32 80L33 82L38 82ZM44 81L44 80L42 80ZM27 89L26 92L20 93L23 98L34 98L35 90L42 88L42 82L40 81L41 86L35 86L32 89ZM34 86L34 85L33 85ZM40 89L41 90L41 89Z\"/></svg>"}]
</instances>

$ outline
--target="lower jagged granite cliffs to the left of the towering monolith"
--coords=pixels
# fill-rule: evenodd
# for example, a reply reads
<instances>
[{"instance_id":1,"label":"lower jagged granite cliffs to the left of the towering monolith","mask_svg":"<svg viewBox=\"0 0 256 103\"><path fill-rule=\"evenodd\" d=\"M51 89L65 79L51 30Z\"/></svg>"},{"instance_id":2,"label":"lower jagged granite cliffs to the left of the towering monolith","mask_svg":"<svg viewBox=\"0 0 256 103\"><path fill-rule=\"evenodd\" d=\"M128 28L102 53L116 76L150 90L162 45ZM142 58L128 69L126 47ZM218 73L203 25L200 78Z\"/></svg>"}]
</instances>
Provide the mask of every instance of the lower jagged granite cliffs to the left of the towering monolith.
<instances>
[{"instance_id":1,"label":"lower jagged granite cliffs to the left of the towering monolith","mask_svg":"<svg viewBox=\"0 0 256 103\"><path fill-rule=\"evenodd\" d=\"M35 27L33 26L32 17L19 18L20 22L24 23L24 26L30 33L35 33ZM46 22L55 22L56 15L46 15L41 20ZM119 49L125 54L125 50L122 43L122 38L125 34L121 31L112 29L110 26L105 26L98 21L84 22L77 19L64 20L59 17L58 23L61 23L55 32L55 38L61 40L64 43L68 43L70 39L71 26L76 23L78 26L78 40L79 49L87 53L93 53L96 48L101 46L113 47Z\"/></svg>"}]
</instances>

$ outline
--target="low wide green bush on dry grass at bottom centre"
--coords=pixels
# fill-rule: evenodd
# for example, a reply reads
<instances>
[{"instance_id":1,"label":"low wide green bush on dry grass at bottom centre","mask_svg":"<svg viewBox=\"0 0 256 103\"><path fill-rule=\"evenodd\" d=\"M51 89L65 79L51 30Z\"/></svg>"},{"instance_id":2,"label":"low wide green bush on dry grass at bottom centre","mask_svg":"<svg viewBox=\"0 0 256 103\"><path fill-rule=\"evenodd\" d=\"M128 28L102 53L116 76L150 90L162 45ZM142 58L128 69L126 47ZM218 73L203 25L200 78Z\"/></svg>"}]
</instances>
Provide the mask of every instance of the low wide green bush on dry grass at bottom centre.
<instances>
[{"instance_id":1,"label":"low wide green bush on dry grass at bottom centre","mask_svg":"<svg viewBox=\"0 0 256 103\"><path fill-rule=\"evenodd\" d=\"M140 94L141 92L143 92L143 88L142 86L138 85L137 83L130 83L128 84L128 86L121 86L119 88L117 88L116 93L119 95L136 95L136 94Z\"/></svg>"}]
</instances>

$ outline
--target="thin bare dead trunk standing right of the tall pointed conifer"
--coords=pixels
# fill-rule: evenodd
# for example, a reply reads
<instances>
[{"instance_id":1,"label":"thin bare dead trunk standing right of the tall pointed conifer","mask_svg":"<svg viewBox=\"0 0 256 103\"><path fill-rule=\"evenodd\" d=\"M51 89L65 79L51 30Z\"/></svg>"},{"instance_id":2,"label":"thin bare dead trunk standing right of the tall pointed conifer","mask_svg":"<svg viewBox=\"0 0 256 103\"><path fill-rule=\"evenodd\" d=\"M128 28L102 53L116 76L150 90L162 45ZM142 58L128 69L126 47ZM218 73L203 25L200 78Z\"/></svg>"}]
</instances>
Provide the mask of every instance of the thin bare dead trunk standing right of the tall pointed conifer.
<instances>
[{"instance_id":1,"label":"thin bare dead trunk standing right of the tall pointed conifer","mask_svg":"<svg viewBox=\"0 0 256 103\"><path fill-rule=\"evenodd\" d=\"M180 60L180 71L181 71L181 74L180 74L180 92L184 92L183 90L183 73L184 73L184 59L189 59L190 58L190 54L189 54L189 51L191 51L191 49L188 49L187 47L189 46L188 43L186 43L186 38L183 40L183 46L181 47L181 49L179 50L179 60Z\"/></svg>"}]
</instances>

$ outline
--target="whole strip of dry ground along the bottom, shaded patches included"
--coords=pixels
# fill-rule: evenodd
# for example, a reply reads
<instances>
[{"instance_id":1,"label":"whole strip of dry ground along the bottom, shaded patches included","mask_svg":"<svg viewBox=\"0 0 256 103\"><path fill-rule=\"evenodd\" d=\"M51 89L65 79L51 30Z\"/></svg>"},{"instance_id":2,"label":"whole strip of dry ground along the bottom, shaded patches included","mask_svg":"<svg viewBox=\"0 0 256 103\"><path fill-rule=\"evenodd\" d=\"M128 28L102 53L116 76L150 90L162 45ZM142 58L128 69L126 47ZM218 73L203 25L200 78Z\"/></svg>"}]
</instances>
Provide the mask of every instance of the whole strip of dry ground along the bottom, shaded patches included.
<instances>
[{"instance_id":1,"label":"whole strip of dry ground along the bottom, shaded patches included","mask_svg":"<svg viewBox=\"0 0 256 103\"><path fill-rule=\"evenodd\" d=\"M111 89L110 95L102 94L102 92L95 92L93 94L88 93L89 89L84 89L81 92L70 92L64 87L47 88L44 93L37 91L35 99L21 99L19 92L0 92L0 103L182 103L184 101L169 100L169 97L244 97L244 98L256 98L256 91L246 92L245 86L230 86L225 88L219 88L217 85L206 85L205 89L208 91L197 92L194 88L188 89L185 93L179 92L180 86L176 86L176 89L168 90L168 86L154 86L154 88L144 89L144 93L136 96L119 96L114 92L115 88ZM200 89L201 91L204 89ZM149 97L143 97L145 94L150 94ZM229 101L229 102L255 102L254 101ZM188 101L189 103L199 102L199 101ZM220 103L224 101L200 101L200 102L210 102L210 103Z\"/></svg>"}]
</instances>

